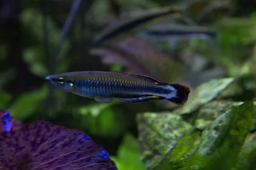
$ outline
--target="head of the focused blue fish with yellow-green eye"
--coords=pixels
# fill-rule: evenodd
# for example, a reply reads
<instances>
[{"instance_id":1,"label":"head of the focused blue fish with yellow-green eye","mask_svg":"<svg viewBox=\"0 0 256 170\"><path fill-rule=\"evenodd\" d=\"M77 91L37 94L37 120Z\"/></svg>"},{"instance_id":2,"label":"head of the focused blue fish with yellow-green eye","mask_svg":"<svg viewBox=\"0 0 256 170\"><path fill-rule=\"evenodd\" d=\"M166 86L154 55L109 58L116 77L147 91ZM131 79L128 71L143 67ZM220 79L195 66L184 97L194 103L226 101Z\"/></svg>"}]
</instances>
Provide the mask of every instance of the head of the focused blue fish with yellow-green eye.
<instances>
[{"instance_id":1,"label":"head of the focused blue fish with yellow-green eye","mask_svg":"<svg viewBox=\"0 0 256 170\"><path fill-rule=\"evenodd\" d=\"M56 88L59 88L63 91L71 92L75 89L76 79L69 75L68 73L62 74L52 74L45 77Z\"/></svg>"}]
</instances>

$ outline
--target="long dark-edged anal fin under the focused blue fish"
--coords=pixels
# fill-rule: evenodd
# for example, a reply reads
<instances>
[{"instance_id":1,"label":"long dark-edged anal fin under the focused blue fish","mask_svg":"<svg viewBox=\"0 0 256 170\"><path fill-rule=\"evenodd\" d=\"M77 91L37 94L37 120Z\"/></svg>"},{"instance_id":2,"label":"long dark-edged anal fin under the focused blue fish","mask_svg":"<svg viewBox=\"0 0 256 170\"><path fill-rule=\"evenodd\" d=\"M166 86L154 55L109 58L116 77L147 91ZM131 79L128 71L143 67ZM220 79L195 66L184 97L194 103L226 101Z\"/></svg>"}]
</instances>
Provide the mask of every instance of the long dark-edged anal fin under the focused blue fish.
<instances>
[{"instance_id":1,"label":"long dark-edged anal fin under the focused blue fish","mask_svg":"<svg viewBox=\"0 0 256 170\"><path fill-rule=\"evenodd\" d=\"M131 98L116 98L118 100L122 100L124 102L128 102L128 103L142 103L142 102L149 102L151 100L162 100L165 99L164 97L161 96L155 96L155 95L151 95L151 96L134 96Z\"/></svg>"}]
</instances>

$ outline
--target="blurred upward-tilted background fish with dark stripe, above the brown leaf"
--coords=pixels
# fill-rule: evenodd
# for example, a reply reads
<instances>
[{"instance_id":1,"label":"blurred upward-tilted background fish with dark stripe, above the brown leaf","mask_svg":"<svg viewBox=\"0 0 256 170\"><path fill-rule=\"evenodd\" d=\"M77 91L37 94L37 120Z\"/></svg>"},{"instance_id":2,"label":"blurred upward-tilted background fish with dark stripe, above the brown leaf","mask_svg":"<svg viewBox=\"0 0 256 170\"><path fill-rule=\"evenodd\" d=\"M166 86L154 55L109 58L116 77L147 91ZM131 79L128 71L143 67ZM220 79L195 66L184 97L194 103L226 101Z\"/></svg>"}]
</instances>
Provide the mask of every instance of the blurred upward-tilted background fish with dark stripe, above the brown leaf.
<instances>
[{"instance_id":1,"label":"blurred upward-tilted background fish with dark stripe, above the brown leaf","mask_svg":"<svg viewBox=\"0 0 256 170\"><path fill-rule=\"evenodd\" d=\"M97 45L116 42L129 37L128 35L135 34L137 31L144 30L147 26L152 26L170 15L181 12L182 9L177 6L166 6L146 10L136 15L124 15L109 23L103 31L93 38L93 43Z\"/></svg>"}]
</instances>

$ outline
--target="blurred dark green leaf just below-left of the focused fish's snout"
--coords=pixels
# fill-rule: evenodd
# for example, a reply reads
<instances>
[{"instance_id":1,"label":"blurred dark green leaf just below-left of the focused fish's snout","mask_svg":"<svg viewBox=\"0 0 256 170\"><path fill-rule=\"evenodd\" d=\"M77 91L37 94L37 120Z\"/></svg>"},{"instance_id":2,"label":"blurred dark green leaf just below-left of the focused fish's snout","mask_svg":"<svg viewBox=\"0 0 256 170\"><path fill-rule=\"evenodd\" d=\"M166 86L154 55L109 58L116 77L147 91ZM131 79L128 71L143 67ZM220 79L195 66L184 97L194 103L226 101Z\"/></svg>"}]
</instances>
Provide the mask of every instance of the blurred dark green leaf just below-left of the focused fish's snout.
<instances>
[{"instance_id":1,"label":"blurred dark green leaf just below-left of the focused fish's snout","mask_svg":"<svg viewBox=\"0 0 256 170\"><path fill-rule=\"evenodd\" d=\"M10 108L12 116L19 120L28 118L38 110L38 105L42 104L46 96L47 86L45 85L41 89L21 94Z\"/></svg>"}]
</instances>

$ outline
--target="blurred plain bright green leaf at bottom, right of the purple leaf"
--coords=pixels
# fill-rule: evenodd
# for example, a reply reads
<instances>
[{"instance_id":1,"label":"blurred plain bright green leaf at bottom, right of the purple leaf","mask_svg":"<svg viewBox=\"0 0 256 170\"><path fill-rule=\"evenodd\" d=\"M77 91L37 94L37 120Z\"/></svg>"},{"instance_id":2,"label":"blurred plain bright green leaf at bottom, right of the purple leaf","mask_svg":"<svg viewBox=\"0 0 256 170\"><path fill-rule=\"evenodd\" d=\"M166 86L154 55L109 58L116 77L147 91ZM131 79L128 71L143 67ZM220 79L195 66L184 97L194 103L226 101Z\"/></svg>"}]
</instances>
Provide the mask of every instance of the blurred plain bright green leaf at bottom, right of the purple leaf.
<instances>
[{"instance_id":1,"label":"blurred plain bright green leaf at bottom, right of the purple leaf","mask_svg":"<svg viewBox=\"0 0 256 170\"><path fill-rule=\"evenodd\" d=\"M125 134L118 148L117 156L111 156L118 170L146 170L140 160L140 147L137 139L130 133Z\"/></svg>"}]
</instances>

